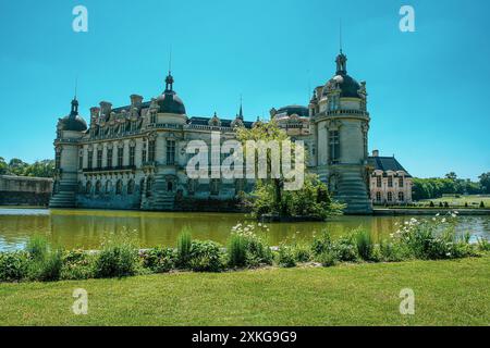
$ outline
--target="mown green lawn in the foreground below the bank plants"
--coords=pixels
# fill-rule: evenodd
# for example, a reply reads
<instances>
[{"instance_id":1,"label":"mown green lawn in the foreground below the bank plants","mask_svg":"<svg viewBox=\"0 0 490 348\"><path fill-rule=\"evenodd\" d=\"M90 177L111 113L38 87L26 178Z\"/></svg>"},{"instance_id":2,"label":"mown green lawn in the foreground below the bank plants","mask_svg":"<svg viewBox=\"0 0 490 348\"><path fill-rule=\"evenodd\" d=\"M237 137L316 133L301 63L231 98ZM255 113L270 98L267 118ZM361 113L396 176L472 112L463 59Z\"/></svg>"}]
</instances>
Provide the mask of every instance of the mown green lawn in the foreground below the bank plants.
<instances>
[{"instance_id":1,"label":"mown green lawn in the foreground below the bank plants","mask_svg":"<svg viewBox=\"0 0 490 348\"><path fill-rule=\"evenodd\" d=\"M78 287L87 315L71 311ZM489 325L489 289L490 257L0 284L0 325Z\"/></svg>"}]
</instances>

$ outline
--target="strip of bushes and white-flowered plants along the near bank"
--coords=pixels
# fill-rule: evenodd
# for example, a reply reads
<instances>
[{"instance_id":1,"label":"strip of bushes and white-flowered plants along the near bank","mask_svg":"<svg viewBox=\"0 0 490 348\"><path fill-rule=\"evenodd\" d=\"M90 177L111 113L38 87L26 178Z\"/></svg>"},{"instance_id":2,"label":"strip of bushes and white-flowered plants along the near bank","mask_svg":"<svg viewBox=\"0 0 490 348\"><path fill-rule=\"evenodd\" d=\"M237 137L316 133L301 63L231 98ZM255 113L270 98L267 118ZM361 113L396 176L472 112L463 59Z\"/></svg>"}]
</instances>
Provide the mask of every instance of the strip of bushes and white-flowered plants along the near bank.
<instances>
[{"instance_id":1,"label":"strip of bushes and white-flowered plants along the near bank","mask_svg":"<svg viewBox=\"0 0 490 348\"><path fill-rule=\"evenodd\" d=\"M87 252L63 250L34 237L23 251L0 253L0 281L50 282L271 265L332 266L345 262L462 259L490 251L490 244L485 239L470 243L469 234L457 236L456 220L456 213L412 219L383 240L375 240L359 228L333 240L323 231L311 243L293 237L273 248L267 243L269 227L260 223L234 226L225 248L211 240L195 240L189 231L180 235L176 249L160 246L140 250L131 236L113 234L100 250Z\"/></svg>"}]
</instances>

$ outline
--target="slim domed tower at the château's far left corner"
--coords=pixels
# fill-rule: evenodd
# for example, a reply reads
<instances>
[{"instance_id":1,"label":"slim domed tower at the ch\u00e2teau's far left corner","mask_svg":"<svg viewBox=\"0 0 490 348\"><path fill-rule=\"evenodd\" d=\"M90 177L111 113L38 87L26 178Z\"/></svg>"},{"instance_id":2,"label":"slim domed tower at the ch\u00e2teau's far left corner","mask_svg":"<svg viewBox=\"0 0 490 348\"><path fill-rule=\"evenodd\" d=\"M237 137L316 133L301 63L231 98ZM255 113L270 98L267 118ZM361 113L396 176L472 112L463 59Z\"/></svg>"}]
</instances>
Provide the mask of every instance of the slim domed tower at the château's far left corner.
<instances>
[{"instance_id":1,"label":"slim domed tower at the ch\u00e2teau's far left corner","mask_svg":"<svg viewBox=\"0 0 490 348\"><path fill-rule=\"evenodd\" d=\"M78 115L78 100L72 100L69 115L59 119L54 139L54 184L51 208L71 208L76 206L78 140L87 130L87 123Z\"/></svg>"}]
</instances>

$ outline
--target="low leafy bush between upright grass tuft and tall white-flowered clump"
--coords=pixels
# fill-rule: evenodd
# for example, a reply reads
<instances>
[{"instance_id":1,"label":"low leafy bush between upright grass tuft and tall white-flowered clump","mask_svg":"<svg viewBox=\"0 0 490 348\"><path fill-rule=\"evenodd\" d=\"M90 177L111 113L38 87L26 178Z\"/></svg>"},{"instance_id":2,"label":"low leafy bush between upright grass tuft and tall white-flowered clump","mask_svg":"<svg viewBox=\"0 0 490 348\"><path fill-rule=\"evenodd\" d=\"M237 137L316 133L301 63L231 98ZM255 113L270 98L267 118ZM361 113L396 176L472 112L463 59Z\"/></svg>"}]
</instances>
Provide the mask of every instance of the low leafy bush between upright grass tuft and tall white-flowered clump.
<instances>
[{"instance_id":1,"label":"low leafy bush between upright grass tuft and tall white-flowered clump","mask_svg":"<svg viewBox=\"0 0 490 348\"><path fill-rule=\"evenodd\" d=\"M188 266L197 272L219 272L223 269L223 253L220 245L211 241L193 240Z\"/></svg>"}]
</instances>

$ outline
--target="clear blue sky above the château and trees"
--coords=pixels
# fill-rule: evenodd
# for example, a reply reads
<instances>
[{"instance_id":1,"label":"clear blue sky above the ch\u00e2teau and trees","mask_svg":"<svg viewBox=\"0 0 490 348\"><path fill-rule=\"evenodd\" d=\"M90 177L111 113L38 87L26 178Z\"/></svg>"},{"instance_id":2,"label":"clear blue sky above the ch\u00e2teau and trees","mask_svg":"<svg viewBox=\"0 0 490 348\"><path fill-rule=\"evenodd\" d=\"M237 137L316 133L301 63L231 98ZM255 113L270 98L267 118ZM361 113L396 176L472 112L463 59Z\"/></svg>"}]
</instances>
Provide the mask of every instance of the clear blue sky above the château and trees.
<instances>
[{"instance_id":1,"label":"clear blue sky above the ch\u00e2teau and trees","mask_svg":"<svg viewBox=\"0 0 490 348\"><path fill-rule=\"evenodd\" d=\"M88 9L88 33L72 9ZM416 33L399 10L416 11ZM369 147L416 176L490 171L490 2L471 1L26 1L0 2L0 156L52 158L58 117L78 75L82 114L174 88L189 115L247 120L307 104L334 73L339 20L348 73L367 80Z\"/></svg>"}]
</instances>

